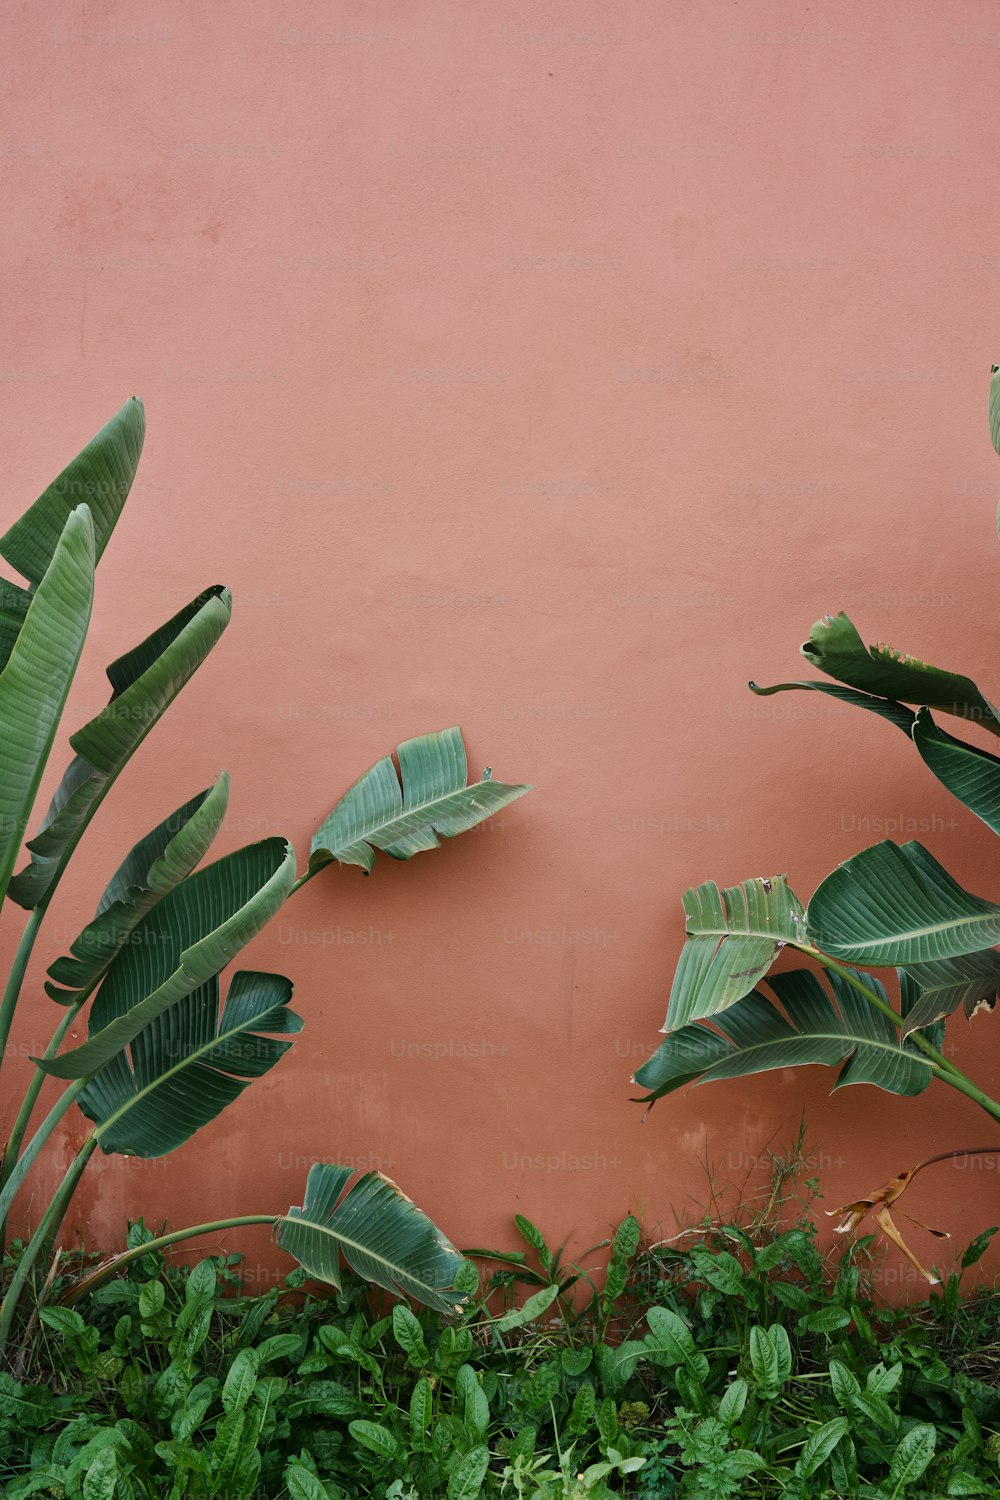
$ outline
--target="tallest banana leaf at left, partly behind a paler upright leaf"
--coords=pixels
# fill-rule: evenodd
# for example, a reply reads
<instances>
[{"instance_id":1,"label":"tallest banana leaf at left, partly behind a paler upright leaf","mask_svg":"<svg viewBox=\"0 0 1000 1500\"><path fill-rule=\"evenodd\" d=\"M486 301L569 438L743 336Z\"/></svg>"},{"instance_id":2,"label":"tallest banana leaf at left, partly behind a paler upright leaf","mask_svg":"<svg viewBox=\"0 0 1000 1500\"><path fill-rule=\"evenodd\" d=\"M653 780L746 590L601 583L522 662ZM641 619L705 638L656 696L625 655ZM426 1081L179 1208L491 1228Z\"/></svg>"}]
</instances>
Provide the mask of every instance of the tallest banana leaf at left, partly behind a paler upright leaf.
<instances>
[{"instance_id":1,"label":"tallest banana leaf at left, partly behind a paler upright leaf","mask_svg":"<svg viewBox=\"0 0 1000 1500\"><path fill-rule=\"evenodd\" d=\"M40 584L70 513L85 504L93 518L96 566L129 498L144 436L145 411L132 396L4 531L0 556L31 585Z\"/></svg>"}]
</instances>

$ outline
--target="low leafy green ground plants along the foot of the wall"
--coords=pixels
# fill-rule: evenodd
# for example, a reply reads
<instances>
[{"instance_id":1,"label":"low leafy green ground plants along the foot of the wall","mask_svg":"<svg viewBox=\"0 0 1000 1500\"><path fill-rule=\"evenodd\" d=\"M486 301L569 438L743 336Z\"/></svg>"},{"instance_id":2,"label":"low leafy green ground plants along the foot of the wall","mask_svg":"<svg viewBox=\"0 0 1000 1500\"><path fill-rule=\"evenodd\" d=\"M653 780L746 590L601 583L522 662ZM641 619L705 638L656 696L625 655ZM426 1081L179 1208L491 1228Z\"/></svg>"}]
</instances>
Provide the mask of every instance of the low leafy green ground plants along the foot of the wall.
<instances>
[{"instance_id":1,"label":"low leafy green ground plants along the foot of the wall","mask_svg":"<svg viewBox=\"0 0 1000 1500\"><path fill-rule=\"evenodd\" d=\"M879 1306L807 1214L639 1224L580 1263L519 1218L457 1317L238 1257L138 1258L0 1372L9 1500L822 1500L1000 1491L1000 1294ZM150 1239L141 1224L130 1244ZM600 1252L600 1254L598 1254ZM16 1246L13 1246L16 1254ZM57 1298L58 1286L54 1288Z\"/></svg>"}]
</instances>

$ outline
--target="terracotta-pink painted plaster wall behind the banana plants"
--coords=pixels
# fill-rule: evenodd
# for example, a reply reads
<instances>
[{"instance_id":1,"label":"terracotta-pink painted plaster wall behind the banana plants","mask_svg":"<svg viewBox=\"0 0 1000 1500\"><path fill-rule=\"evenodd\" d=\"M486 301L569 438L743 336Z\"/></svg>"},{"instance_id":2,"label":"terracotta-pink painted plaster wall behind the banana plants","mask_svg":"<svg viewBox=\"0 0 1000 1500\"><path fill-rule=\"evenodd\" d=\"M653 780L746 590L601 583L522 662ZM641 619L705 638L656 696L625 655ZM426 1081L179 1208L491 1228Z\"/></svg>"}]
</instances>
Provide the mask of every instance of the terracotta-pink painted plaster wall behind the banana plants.
<instances>
[{"instance_id":1,"label":"terracotta-pink painted plaster wall behind the banana plants","mask_svg":"<svg viewBox=\"0 0 1000 1500\"><path fill-rule=\"evenodd\" d=\"M745 688L840 608L996 682L996 6L57 0L1 30L4 524L129 393L148 412L69 726L106 660L235 594L43 957L220 766L226 848L304 850L459 720L477 770L538 788L310 886L250 954L295 978L294 1056L169 1161L96 1164L87 1239L283 1208L324 1158L459 1244L520 1210L580 1246L636 1206L669 1232L700 1156L739 1179L804 1107L831 1204L979 1143L943 1090L771 1076L642 1124L628 1076L694 880L808 894L918 832L996 894L991 836L901 736ZM18 1066L49 1024L39 999ZM1000 1023L955 1036L1000 1090ZM912 1200L964 1244L997 1176Z\"/></svg>"}]
</instances>

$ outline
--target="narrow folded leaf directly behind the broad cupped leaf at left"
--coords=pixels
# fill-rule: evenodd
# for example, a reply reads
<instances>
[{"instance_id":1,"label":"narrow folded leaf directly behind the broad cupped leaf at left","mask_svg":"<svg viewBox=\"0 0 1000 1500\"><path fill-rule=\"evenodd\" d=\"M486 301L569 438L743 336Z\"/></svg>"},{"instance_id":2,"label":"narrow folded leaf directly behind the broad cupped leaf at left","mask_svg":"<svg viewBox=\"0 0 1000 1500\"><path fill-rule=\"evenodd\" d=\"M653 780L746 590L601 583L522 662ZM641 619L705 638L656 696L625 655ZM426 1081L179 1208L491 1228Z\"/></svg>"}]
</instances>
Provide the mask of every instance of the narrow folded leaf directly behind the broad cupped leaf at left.
<instances>
[{"instance_id":1,"label":"narrow folded leaf directly behind the broad cupped leaf at left","mask_svg":"<svg viewBox=\"0 0 1000 1500\"><path fill-rule=\"evenodd\" d=\"M84 998L106 974L115 954L168 891L201 864L229 802L229 777L199 792L165 818L124 856L97 904L97 915L51 964L45 993L60 1005Z\"/></svg>"}]
</instances>

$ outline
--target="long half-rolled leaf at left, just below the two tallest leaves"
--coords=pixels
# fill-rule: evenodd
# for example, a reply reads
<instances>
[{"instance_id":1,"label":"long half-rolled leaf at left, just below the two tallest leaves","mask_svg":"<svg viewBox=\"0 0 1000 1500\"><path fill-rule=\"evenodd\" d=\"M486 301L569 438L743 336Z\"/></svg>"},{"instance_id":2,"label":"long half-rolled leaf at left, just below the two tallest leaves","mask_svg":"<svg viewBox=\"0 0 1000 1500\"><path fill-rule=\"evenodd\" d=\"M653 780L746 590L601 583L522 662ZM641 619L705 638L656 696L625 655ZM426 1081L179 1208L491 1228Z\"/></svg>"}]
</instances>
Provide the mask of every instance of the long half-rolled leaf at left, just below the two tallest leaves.
<instances>
[{"instance_id":1,"label":"long half-rolled leaf at left, just below the two tallest leaves","mask_svg":"<svg viewBox=\"0 0 1000 1500\"><path fill-rule=\"evenodd\" d=\"M229 591L216 586L108 668L111 700L70 738L76 752L39 832L30 862L10 882L10 897L31 908L48 902L90 819L117 776L193 676L229 622Z\"/></svg>"}]
</instances>

